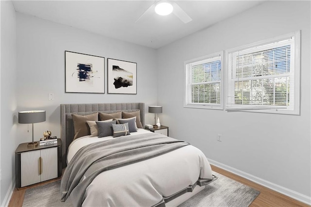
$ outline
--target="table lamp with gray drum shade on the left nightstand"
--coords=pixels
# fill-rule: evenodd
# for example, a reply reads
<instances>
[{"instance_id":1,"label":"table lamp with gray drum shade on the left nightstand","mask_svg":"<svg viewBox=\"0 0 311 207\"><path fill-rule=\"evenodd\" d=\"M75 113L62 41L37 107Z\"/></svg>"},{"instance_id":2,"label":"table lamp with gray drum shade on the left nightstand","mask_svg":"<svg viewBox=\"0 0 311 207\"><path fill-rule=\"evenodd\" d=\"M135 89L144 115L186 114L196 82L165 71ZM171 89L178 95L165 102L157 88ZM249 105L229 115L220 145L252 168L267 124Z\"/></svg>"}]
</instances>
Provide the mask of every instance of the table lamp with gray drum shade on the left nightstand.
<instances>
[{"instance_id":1,"label":"table lamp with gray drum shade on the left nightstand","mask_svg":"<svg viewBox=\"0 0 311 207\"><path fill-rule=\"evenodd\" d=\"M28 146L36 146L38 142L34 142L34 123L45 121L45 111L20 111L18 112L18 123L32 123L33 124L33 141L28 143Z\"/></svg>"}]
</instances>

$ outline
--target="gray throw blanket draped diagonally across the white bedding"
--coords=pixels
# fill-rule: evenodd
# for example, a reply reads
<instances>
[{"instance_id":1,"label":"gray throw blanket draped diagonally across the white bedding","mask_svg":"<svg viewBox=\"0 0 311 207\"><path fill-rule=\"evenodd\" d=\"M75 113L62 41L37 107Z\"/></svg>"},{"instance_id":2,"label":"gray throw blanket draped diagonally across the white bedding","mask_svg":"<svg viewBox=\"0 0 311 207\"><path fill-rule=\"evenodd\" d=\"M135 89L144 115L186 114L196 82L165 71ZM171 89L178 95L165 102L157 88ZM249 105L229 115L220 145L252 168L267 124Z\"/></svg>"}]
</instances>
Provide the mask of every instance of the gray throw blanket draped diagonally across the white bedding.
<instances>
[{"instance_id":1,"label":"gray throw blanket draped diagonally across the white bedding","mask_svg":"<svg viewBox=\"0 0 311 207\"><path fill-rule=\"evenodd\" d=\"M81 206L93 179L104 171L149 159L189 145L156 133L122 136L81 148L67 166L61 181L61 201L71 194L74 206ZM109 179L109 178L108 178Z\"/></svg>"}]
</instances>

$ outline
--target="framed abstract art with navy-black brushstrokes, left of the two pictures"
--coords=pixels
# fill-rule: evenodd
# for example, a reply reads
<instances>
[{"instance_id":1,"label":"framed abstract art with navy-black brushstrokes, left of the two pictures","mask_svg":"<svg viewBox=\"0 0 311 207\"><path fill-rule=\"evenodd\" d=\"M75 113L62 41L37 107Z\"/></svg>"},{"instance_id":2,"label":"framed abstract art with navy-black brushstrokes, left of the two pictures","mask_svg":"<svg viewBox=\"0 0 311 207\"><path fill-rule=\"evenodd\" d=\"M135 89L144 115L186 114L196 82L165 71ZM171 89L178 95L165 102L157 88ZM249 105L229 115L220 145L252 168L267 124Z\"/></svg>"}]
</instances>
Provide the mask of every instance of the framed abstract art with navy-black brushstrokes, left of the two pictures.
<instances>
[{"instance_id":1,"label":"framed abstract art with navy-black brushstrokes, left of the two pictures","mask_svg":"<svg viewBox=\"0 0 311 207\"><path fill-rule=\"evenodd\" d=\"M65 92L104 93L105 58L65 51Z\"/></svg>"}]
</instances>

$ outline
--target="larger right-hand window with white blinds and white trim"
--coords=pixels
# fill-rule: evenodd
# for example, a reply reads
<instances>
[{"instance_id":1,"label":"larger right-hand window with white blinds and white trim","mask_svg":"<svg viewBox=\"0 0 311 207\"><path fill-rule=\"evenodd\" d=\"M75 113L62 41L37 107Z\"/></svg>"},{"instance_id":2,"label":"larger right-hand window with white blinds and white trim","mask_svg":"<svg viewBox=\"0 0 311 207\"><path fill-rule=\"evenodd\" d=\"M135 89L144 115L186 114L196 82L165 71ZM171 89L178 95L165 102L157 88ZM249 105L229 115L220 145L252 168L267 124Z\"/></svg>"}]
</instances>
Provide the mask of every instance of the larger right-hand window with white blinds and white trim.
<instances>
[{"instance_id":1,"label":"larger right-hand window with white blinds and white trim","mask_svg":"<svg viewBox=\"0 0 311 207\"><path fill-rule=\"evenodd\" d=\"M300 31L226 51L226 110L299 114Z\"/></svg>"}]
</instances>

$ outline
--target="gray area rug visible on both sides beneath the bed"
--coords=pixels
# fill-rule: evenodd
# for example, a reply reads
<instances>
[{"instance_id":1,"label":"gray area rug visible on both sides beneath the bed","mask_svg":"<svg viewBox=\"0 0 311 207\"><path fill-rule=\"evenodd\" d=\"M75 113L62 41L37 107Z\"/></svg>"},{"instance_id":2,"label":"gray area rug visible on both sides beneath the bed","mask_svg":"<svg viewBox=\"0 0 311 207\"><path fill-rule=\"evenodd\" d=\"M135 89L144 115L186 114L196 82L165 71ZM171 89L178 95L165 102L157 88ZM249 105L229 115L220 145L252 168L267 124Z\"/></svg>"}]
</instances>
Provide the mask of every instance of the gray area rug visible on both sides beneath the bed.
<instances>
[{"instance_id":1,"label":"gray area rug visible on both sides beneath the bed","mask_svg":"<svg viewBox=\"0 0 311 207\"><path fill-rule=\"evenodd\" d=\"M213 172L217 180L179 207L248 207L259 191ZM70 198L60 202L60 180L28 189L23 207L72 207Z\"/></svg>"}]
</instances>

